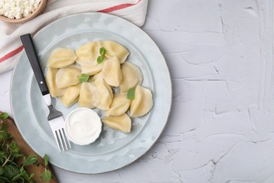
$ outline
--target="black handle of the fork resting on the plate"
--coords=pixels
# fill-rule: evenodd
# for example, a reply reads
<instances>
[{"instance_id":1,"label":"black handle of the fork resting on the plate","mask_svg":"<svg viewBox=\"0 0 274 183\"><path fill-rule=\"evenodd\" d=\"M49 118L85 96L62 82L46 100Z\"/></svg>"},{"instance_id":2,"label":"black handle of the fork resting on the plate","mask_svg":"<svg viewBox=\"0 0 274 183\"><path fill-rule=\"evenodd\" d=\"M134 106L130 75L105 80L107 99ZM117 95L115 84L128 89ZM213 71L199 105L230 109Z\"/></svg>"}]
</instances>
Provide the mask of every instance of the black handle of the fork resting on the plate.
<instances>
[{"instance_id":1,"label":"black handle of the fork resting on the plate","mask_svg":"<svg viewBox=\"0 0 274 183\"><path fill-rule=\"evenodd\" d=\"M46 80L44 74L41 70L41 65L35 51L34 44L32 42L32 37L30 34L24 34L20 37L22 44L24 45L25 51L27 53L27 58L29 58L30 65L32 65L32 70L38 82L39 88L42 95L49 94L48 87L46 86Z\"/></svg>"}]
</instances>

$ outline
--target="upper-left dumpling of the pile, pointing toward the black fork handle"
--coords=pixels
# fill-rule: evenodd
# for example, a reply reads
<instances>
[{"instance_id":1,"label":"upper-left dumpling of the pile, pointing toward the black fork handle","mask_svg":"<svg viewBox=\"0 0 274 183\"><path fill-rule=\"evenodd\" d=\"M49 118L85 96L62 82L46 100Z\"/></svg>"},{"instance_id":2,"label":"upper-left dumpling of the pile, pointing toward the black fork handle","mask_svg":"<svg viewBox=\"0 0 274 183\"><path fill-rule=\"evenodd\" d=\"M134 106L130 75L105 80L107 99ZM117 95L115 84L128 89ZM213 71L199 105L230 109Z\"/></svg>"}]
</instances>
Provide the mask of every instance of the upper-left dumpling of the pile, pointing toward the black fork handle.
<instances>
[{"instance_id":1,"label":"upper-left dumpling of the pile, pointing toward the black fork handle","mask_svg":"<svg viewBox=\"0 0 274 183\"><path fill-rule=\"evenodd\" d=\"M76 59L77 56L72 49L57 48L51 53L46 66L51 68L64 68L74 63Z\"/></svg>"}]
</instances>

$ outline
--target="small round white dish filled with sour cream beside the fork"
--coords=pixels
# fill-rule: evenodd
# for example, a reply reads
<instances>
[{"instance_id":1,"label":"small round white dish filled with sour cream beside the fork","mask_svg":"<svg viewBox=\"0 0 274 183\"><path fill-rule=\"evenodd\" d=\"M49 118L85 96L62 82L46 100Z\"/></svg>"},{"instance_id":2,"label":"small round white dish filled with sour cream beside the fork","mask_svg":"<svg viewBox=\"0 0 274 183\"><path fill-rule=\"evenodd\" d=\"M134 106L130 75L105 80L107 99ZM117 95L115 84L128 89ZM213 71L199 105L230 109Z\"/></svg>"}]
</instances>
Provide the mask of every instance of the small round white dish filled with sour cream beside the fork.
<instances>
[{"instance_id":1,"label":"small round white dish filled with sour cream beside the fork","mask_svg":"<svg viewBox=\"0 0 274 183\"><path fill-rule=\"evenodd\" d=\"M68 139L74 144L87 145L98 139L102 122L98 114L90 108L77 108L65 120Z\"/></svg>"}]
</instances>

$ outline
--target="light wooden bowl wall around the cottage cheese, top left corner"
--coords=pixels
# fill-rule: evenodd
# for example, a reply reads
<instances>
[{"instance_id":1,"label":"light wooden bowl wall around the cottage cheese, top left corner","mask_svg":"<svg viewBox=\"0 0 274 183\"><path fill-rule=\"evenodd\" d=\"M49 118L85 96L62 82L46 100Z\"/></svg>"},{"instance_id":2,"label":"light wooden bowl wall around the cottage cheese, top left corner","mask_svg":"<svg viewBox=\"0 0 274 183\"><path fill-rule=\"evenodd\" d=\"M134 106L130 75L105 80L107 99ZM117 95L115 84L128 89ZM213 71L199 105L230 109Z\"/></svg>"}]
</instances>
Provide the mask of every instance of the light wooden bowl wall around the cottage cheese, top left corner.
<instances>
[{"instance_id":1,"label":"light wooden bowl wall around the cottage cheese, top left corner","mask_svg":"<svg viewBox=\"0 0 274 183\"><path fill-rule=\"evenodd\" d=\"M30 15L27 15L24 18L20 18L20 19L14 18L13 19L13 18L7 18L4 15L0 15L0 20L3 20L7 23L25 23L29 20L32 20L32 18L36 17L37 15L40 15L41 13L43 13L46 8L46 4L47 4L47 0L41 0L40 4L35 9L35 11L33 13L31 13Z\"/></svg>"}]
</instances>

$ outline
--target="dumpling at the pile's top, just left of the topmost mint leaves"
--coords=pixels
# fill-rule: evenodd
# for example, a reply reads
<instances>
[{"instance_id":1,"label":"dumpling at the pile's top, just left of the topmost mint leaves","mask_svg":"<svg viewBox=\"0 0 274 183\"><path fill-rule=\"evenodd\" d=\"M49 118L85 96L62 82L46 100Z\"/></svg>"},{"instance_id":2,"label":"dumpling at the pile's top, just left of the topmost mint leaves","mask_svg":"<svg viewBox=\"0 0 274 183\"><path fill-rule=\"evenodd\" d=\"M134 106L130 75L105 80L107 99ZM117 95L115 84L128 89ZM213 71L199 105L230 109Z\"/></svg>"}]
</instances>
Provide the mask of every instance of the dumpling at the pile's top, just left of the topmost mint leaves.
<instances>
[{"instance_id":1,"label":"dumpling at the pile's top, just left of the topmost mint leaves","mask_svg":"<svg viewBox=\"0 0 274 183\"><path fill-rule=\"evenodd\" d=\"M100 42L84 44L75 53L77 63L85 67L92 67L97 64L97 58L100 56Z\"/></svg>"}]
</instances>

